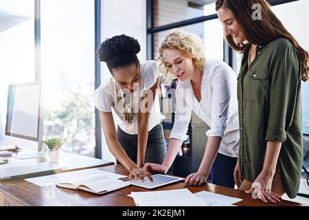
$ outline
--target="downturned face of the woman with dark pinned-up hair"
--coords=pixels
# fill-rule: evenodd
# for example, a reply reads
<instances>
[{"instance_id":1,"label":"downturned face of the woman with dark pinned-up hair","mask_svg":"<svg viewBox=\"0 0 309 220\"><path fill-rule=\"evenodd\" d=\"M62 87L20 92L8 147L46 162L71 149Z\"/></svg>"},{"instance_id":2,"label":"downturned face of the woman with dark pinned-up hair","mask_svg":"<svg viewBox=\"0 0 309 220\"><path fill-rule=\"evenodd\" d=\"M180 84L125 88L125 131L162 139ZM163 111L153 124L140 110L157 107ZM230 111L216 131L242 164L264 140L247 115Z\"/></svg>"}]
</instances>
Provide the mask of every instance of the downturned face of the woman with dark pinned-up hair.
<instances>
[{"instance_id":1,"label":"downturned face of the woman with dark pinned-up hair","mask_svg":"<svg viewBox=\"0 0 309 220\"><path fill-rule=\"evenodd\" d=\"M133 85L141 82L141 72L135 64L113 69L112 74L120 88L129 89L131 92Z\"/></svg>"}]
</instances>

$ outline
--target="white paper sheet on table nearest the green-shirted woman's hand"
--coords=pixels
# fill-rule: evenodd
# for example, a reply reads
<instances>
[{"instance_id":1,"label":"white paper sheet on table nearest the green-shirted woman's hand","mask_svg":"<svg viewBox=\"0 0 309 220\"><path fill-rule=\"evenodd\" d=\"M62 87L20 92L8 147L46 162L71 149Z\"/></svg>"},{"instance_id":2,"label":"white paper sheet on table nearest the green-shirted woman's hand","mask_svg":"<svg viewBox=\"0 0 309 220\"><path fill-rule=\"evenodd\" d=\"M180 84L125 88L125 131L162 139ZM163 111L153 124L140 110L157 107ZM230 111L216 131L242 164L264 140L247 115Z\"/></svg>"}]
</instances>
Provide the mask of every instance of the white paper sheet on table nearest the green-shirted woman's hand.
<instances>
[{"instance_id":1,"label":"white paper sheet on table nearest the green-shirted woman's hand","mask_svg":"<svg viewBox=\"0 0 309 220\"><path fill-rule=\"evenodd\" d=\"M242 199L207 191L196 192L194 195L203 199L207 206L233 206L233 203L242 201Z\"/></svg>"}]
</instances>

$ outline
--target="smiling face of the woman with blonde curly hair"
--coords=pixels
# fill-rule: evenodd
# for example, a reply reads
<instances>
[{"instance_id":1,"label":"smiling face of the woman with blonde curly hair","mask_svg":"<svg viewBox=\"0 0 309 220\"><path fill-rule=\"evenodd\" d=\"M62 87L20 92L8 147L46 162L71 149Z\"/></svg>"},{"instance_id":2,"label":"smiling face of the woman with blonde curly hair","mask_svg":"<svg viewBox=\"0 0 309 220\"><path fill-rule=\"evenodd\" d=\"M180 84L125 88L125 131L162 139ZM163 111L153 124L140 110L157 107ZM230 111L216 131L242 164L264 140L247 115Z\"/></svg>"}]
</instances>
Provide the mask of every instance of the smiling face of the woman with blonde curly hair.
<instances>
[{"instance_id":1,"label":"smiling face of the woman with blonde curly hair","mask_svg":"<svg viewBox=\"0 0 309 220\"><path fill-rule=\"evenodd\" d=\"M164 49L162 55L168 71L173 76L181 81L192 78L194 72L192 58L176 49Z\"/></svg>"}]
</instances>

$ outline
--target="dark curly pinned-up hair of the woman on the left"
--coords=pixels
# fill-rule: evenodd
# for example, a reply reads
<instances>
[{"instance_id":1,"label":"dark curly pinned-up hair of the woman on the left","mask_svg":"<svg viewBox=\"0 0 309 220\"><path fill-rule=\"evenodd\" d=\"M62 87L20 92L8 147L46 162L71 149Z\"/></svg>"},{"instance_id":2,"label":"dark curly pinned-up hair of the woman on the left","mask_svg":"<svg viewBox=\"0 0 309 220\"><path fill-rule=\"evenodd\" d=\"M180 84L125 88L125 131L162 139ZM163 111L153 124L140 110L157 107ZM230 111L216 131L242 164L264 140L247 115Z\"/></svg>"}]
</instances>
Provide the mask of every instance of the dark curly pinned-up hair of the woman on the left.
<instances>
[{"instance_id":1,"label":"dark curly pinned-up hair of the woman on the left","mask_svg":"<svg viewBox=\"0 0 309 220\"><path fill-rule=\"evenodd\" d=\"M113 69L119 67L133 64L139 67L139 59L136 54L140 50L141 46L136 39L122 34L103 41L98 50L98 56L100 61L106 62L109 71L113 74Z\"/></svg>"}]
</instances>

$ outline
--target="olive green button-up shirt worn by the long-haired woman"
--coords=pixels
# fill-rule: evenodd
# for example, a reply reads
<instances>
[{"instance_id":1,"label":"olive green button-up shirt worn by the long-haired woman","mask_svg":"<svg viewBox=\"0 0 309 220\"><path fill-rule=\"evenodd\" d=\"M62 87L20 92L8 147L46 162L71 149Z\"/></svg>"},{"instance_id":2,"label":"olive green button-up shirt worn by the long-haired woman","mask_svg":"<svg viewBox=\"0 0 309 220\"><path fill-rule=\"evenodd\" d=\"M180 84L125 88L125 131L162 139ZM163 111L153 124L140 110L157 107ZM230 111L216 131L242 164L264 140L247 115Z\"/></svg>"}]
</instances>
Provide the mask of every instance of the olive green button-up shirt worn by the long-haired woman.
<instances>
[{"instance_id":1,"label":"olive green button-up shirt worn by the long-haired woman","mask_svg":"<svg viewBox=\"0 0 309 220\"><path fill-rule=\"evenodd\" d=\"M239 162L242 177L260 175L268 141L282 142L278 165L288 197L299 190L303 161L301 74L297 50L287 39L259 45L248 69L249 47L238 75Z\"/></svg>"}]
</instances>

